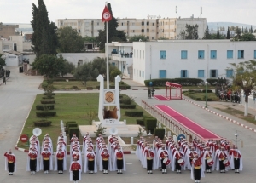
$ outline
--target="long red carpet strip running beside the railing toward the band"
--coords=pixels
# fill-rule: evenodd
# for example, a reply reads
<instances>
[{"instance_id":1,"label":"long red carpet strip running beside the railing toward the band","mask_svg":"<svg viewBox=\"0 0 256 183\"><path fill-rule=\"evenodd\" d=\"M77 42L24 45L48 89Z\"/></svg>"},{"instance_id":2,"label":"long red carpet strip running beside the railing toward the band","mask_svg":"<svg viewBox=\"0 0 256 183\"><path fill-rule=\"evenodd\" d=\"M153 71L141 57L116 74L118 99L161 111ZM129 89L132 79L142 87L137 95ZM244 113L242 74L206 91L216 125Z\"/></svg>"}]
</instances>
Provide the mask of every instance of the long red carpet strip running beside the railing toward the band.
<instances>
[{"instance_id":1,"label":"long red carpet strip running beside the railing toward the band","mask_svg":"<svg viewBox=\"0 0 256 183\"><path fill-rule=\"evenodd\" d=\"M182 124L187 129L190 129L198 136L201 136L203 139L219 139L220 137L217 134L213 134L211 131L201 127L199 124L193 122L187 117L184 117L181 113L176 112L170 106L166 105L154 105L160 111L166 113L166 115L174 118L178 123Z\"/></svg>"}]
</instances>

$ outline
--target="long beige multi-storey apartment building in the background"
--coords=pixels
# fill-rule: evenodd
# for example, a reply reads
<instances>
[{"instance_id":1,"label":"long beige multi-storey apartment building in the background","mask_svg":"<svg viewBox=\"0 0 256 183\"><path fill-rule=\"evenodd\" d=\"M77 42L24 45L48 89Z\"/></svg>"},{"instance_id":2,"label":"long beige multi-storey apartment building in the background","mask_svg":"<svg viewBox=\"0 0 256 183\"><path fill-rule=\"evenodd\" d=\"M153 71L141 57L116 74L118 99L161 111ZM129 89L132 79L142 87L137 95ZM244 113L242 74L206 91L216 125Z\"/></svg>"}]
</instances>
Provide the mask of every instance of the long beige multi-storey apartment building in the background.
<instances>
[{"instance_id":1,"label":"long beige multi-storey apartment building in the background","mask_svg":"<svg viewBox=\"0 0 256 183\"><path fill-rule=\"evenodd\" d=\"M185 30L186 24L197 24L199 37L203 37L207 28L206 18L152 18L134 19L125 18L117 19L119 26L117 30L124 31L127 37L144 35L150 41L157 40L160 37L167 39L178 39L180 31ZM101 19L58 19L56 20L58 28L71 26L77 30L82 37L97 37L98 31L104 29L104 22Z\"/></svg>"}]
</instances>

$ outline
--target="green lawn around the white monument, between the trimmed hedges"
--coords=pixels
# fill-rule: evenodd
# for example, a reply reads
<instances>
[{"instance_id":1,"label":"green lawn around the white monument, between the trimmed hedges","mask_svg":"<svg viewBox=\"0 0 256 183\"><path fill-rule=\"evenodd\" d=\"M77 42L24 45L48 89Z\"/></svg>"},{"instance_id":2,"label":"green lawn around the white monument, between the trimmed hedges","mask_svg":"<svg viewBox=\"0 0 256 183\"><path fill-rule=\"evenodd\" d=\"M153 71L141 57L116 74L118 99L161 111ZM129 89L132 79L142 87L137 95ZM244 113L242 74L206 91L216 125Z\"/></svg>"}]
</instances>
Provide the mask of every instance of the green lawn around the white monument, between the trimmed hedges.
<instances>
[{"instance_id":1,"label":"green lawn around the white monument, between the trimmed hedges","mask_svg":"<svg viewBox=\"0 0 256 183\"><path fill-rule=\"evenodd\" d=\"M29 114L29 117L26 120L25 127L21 134L28 134L29 137L32 136L32 130L35 128L33 121L36 121L36 106L40 104L43 94L38 94L36 100L32 106L32 110ZM47 119L51 120L51 126L49 127L40 127L42 129L42 134L39 136L40 142L44 138L44 134L49 134L55 146L57 142L57 137L61 132L61 120L63 123L67 121L75 121L79 125L89 125L89 117L87 117L87 112L96 112L96 117L94 120L98 121L97 112L99 104L99 94L55 94L55 111L57 115L55 117L48 117ZM137 105L137 104L136 104ZM143 117L126 117L125 111L133 111L134 109L120 109L121 118L120 121L126 119L127 124L136 124L137 118ZM143 111L141 106L136 106L138 111ZM148 112L144 111L144 116L150 117ZM81 137L79 137L80 139ZM19 147L25 148L25 144L19 142Z\"/></svg>"}]
</instances>

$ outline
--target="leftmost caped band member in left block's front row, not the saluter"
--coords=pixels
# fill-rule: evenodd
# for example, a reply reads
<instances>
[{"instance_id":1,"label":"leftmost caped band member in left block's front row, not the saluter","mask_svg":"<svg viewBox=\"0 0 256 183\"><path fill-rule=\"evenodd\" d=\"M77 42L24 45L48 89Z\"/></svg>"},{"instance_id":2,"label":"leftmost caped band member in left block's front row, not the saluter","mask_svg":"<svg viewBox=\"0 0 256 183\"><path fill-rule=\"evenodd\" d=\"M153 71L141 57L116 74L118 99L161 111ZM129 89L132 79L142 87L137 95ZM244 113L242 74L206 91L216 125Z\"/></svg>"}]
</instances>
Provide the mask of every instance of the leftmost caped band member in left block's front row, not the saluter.
<instances>
[{"instance_id":1,"label":"leftmost caped band member in left block's front row, not the saluter","mask_svg":"<svg viewBox=\"0 0 256 183\"><path fill-rule=\"evenodd\" d=\"M31 148L27 154L26 171L36 174L39 171L39 157L36 148Z\"/></svg>"}]
</instances>

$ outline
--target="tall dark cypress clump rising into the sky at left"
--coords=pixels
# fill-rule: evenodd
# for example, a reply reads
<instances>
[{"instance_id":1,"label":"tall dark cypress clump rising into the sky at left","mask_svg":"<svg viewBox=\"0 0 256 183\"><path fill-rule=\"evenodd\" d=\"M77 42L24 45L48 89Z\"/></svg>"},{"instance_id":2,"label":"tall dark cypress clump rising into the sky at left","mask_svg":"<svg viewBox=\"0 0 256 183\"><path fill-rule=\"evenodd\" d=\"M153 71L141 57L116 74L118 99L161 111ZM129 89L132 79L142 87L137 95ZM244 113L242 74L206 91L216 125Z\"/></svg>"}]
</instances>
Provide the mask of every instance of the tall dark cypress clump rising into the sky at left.
<instances>
[{"instance_id":1,"label":"tall dark cypress clump rising into the sky at left","mask_svg":"<svg viewBox=\"0 0 256 183\"><path fill-rule=\"evenodd\" d=\"M40 56L42 54L56 55L58 41L56 36L56 26L54 22L49 22L48 12L44 0L38 0L38 7L32 3L32 49Z\"/></svg>"}]
</instances>

